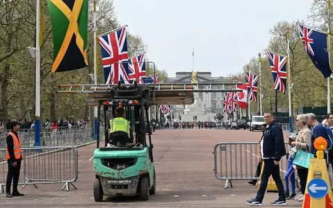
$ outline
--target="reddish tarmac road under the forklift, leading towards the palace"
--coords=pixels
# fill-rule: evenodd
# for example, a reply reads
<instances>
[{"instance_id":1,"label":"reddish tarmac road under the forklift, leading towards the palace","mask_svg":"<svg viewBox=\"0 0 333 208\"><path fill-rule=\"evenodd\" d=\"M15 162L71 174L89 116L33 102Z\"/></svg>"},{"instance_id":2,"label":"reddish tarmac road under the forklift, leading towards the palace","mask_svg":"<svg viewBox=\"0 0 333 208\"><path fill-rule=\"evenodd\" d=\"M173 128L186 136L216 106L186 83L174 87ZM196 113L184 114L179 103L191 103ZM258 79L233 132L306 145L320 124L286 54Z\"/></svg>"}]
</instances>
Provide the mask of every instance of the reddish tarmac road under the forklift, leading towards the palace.
<instances>
[{"instance_id":1,"label":"reddish tarmac road under the forklift, leading towards the palace","mask_svg":"<svg viewBox=\"0 0 333 208\"><path fill-rule=\"evenodd\" d=\"M233 181L234 188L224 189L225 181L213 173L213 147L225 141L258 141L260 132L248 130L158 130L154 132L156 162L156 195L149 201L135 198L95 202L92 183L92 152L95 145L79 148L78 190L60 191L63 184L40 184L19 189L24 197L0 195L0 207L248 207L257 187L246 181ZM277 193L266 193L263 207L277 199ZM105 200L105 198L104 198ZM301 202L287 201L289 207Z\"/></svg>"}]
</instances>

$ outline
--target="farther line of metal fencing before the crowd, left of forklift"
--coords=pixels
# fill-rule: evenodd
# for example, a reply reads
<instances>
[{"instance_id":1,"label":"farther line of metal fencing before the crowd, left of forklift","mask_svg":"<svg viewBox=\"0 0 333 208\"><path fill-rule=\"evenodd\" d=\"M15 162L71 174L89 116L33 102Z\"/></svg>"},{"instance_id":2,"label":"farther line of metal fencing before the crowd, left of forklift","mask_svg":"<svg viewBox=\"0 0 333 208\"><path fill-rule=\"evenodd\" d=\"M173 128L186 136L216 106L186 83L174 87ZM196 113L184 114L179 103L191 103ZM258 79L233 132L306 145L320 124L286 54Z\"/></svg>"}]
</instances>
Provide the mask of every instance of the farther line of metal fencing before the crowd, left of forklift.
<instances>
[{"instance_id":1,"label":"farther line of metal fencing before the crowd, left of forklift","mask_svg":"<svg viewBox=\"0 0 333 208\"><path fill-rule=\"evenodd\" d=\"M100 128L101 139L104 137L104 128ZM6 148L8 132L0 135L0 148ZM23 147L31 147L35 144L35 132L19 131L19 139ZM42 146L74 146L95 141L90 128L61 129L54 132L44 131L40 133Z\"/></svg>"}]
</instances>

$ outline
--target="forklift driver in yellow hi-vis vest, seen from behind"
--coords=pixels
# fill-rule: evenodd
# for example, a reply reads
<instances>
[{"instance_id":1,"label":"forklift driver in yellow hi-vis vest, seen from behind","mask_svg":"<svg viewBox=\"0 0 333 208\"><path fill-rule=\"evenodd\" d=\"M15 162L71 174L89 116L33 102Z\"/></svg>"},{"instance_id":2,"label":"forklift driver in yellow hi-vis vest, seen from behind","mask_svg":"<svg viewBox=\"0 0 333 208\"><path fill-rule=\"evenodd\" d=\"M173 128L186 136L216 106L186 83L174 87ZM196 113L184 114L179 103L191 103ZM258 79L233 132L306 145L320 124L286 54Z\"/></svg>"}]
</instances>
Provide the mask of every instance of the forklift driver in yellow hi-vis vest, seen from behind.
<instances>
[{"instance_id":1,"label":"forklift driver in yellow hi-vis vest, seen from behind","mask_svg":"<svg viewBox=\"0 0 333 208\"><path fill-rule=\"evenodd\" d=\"M117 143L117 140L119 139L113 138L117 137L117 133L120 133L122 135L122 142L127 143L129 142L130 137L130 123L126 119L124 119L122 116L124 115L124 109L122 107L117 107L115 110L115 119L111 119L110 122L110 138L112 138L113 141L110 141L110 143ZM116 145L116 144L115 144Z\"/></svg>"}]
</instances>

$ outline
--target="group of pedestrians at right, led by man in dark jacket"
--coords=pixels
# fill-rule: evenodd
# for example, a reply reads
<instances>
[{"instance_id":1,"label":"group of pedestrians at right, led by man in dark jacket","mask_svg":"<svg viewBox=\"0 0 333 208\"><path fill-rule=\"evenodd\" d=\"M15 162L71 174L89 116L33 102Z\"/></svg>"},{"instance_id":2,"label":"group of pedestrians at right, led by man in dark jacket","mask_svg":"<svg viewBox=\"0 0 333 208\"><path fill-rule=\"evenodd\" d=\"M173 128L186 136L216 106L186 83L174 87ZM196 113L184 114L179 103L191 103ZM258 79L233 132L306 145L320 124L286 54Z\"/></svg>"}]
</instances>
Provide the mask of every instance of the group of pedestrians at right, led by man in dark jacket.
<instances>
[{"instance_id":1,"label":"group of pedestrians at right, led by man in dark jacket","mask_svg":"<svg viewBox=\"0 0 333 208\"><path fill-rule=\"evenodd\" d=\"M279 123L274 121L273 115L268 113L264 115L265 125L262 126L263 132L259 145L259 164L255 177L259 177L261 173L262 162L264 162L263 171L261 173L261 184L257 196L252 200L248 200L247 204L251 206L259 206L262 204L263 196L268 185L268 178L272 175L277 189L279 198L272 202L271 205L286 205L286 200L304 200L305 187L307 186L307 175L309 171L309 161L304 164L296 165L294 161L298 150L311 153L316 157L316 148L314 141L318 137L323 137L327 140L331 138L333 133L333 113L327 114L323 122L318 122L316 115L298 114L295 123L298 126L298 132L295 135L289 136L289 149L284 147L284 136ZM286 155L287 170L284 184L279 177L279 160ZM333 164L333 150L325 151L325 159L328 164ZM308 163L308 164L306 164ZM295 172L298 173L300 180L300 194L296 194L295 190ZM248 182L256 185L257 180ZM290 187L289 187L290 185Z\"/></svg>"}]
</instances>

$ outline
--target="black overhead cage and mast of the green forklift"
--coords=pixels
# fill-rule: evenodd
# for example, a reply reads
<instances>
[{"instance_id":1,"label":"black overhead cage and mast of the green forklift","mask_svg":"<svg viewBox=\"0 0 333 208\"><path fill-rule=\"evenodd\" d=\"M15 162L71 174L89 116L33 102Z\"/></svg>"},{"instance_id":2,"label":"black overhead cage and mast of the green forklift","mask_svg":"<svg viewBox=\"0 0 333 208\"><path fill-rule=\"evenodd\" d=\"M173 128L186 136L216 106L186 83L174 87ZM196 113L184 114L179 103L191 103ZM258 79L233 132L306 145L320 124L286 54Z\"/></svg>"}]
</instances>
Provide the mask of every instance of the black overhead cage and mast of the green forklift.
<instances>
[{"instance_id":1,"label":"black overhead cage and mast of the green forklift","mask_svg":"<svg viewBox=\"0 0 333 208\"><path fill-rule=\"evenodd\" d=\"M101 106L103 106L104 112L104 129L105 129L105 144L107 146L115 147L146 147L152 149L151 132L149 131L147 136L149 144L146 141L146 126L150 128L148 110L149 104L145 99L145 94L150 96L147 92L143 92L148 89L141 89L142 87L122 87L118 85L111 95L111 101L99 101L99 110L97 115L101 117ZM117 109L122 108L124 110L123 117L129 121L129 135L127 132L117 131L111 132L110 121L116 118ZM99 134L97 132L97 134ZM97 148L99 148L99 136L97 137Z\"/></svg>"}]
</instances>

